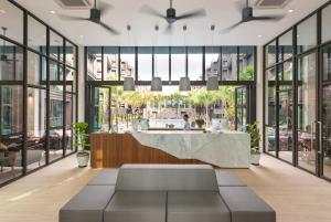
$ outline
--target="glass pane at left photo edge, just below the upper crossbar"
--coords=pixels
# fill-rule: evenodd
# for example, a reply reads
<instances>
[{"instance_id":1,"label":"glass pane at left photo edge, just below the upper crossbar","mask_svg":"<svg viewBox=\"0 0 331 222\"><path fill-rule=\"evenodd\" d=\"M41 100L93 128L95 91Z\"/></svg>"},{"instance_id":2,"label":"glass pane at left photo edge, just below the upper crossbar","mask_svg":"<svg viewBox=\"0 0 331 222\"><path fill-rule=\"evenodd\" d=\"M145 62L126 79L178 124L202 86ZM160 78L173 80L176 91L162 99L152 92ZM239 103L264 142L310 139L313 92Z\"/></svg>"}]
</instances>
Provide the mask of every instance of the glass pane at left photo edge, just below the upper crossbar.
<instances>
[{"instance_id":1,"label":"glass pane at left photo edge, just below the upper crossbar","mask_svg":"<svg viewBox=\"0 0 331 222\"><path fill-rule=\"evenodd\" d=\"M0 81L23 80L23 49L0 39Z\"/></svg>"}]
</instances>

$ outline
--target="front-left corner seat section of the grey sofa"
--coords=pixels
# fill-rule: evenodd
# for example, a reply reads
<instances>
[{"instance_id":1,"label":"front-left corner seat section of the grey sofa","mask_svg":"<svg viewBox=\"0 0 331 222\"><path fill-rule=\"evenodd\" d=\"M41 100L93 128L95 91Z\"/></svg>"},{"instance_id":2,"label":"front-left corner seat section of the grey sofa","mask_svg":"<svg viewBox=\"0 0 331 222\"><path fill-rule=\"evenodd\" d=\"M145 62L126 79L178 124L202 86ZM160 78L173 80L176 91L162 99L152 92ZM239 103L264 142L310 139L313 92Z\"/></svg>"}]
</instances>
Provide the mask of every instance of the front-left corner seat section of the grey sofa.
<instances>
[{"instance_id":1,"label":"front-left corner seat section of the grey sofa","mask_svg":"<svg viewBox=\"0 0 331 222\"><path fill-rule=\"evenodd\" d=\"M114 186L86 186L60 210L60 222L103 222Z\"/></svg>"}]
</instances>

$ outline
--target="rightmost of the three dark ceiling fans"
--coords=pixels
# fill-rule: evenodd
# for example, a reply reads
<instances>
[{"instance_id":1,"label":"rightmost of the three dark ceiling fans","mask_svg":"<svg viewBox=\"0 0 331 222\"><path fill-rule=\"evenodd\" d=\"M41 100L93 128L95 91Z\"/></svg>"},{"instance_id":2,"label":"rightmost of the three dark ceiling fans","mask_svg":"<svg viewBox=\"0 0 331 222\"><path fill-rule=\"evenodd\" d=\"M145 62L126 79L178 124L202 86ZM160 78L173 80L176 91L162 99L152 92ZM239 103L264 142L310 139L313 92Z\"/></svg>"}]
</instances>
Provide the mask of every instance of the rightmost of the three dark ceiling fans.
<instances>
[{"instance_id":1,"label":"rightmost of the three dark ceiling fans","mask_svg":"<svg viewBox=\"0 0 331 222\"><path fill-rule=\"evenodd\" d=\"M249 0L246 0L245 8L244 9L239 8L239 10L242 10L242 21L222 30L221 33L225 34L227 32L231 32L233 29L237 28L238 25L252 21L278 21L284 18L284 15L254 17L253 7L249 7Z\"/></svg>"}]
</instances>

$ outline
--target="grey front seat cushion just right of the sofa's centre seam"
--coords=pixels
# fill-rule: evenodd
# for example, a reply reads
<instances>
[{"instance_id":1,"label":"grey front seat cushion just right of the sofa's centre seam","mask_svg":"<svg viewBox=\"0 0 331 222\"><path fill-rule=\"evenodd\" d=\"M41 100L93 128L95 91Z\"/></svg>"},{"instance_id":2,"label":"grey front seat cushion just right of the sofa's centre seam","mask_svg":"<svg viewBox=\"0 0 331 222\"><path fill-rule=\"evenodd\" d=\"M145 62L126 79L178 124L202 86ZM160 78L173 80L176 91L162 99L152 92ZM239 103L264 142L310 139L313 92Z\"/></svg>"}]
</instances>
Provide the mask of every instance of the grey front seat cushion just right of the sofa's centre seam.
<instances>
[{"instance_id":1,"label":"grey front seat cushion just right of the sofa's centre seam","mask_svg":"<svg viewBox=\"0 0 331 222\"><path fill-rule=\"evenodd\" d=\"M168 222L231 222L231 213L218 192L168 193Z\"/></svg>"}]
</instances>

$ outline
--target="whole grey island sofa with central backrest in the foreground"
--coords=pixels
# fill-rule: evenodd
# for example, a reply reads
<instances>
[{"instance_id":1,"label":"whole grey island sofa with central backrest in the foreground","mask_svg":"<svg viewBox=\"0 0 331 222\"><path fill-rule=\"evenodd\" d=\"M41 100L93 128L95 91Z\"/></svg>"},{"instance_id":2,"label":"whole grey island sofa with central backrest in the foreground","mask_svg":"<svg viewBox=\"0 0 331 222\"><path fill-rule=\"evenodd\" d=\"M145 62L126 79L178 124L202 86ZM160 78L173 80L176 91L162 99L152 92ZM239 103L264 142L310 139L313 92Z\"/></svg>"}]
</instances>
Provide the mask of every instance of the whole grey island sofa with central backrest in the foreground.
<instances>
[{"instance_id":1,"label":"whole grey island sofa with central backrest in the foreground","mask_svg":"<svg viewBox=\"0 0 331 222\"><path fill-rule=\"evenodd\" d=\"M276 222L233 172L206 165L103 170L60 210L60 222Z\"/></svg>"}]
</instances>

